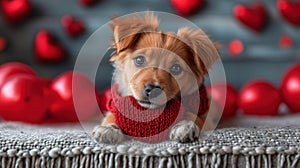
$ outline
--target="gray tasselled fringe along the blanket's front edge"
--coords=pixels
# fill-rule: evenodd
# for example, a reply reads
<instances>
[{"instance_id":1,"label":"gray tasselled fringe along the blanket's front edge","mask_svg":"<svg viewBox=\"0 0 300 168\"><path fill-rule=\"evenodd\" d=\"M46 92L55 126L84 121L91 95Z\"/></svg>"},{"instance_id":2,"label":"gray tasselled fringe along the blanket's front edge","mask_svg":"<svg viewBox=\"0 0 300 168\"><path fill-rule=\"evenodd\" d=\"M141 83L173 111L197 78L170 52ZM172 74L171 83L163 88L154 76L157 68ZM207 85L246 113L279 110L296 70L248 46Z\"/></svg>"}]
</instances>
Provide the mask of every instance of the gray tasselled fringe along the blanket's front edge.
<instances>
[{"instance_id":1,"label":"gray tasselled fringe along the blanket's front edge","mask_svg":"<svg viewBox=\"0 0 300 168\"><path fill-rule=\"evenodd\" d=\"M34 157L0 157L1 168L221 168L221 167L246 167L246 168L269 168L269 167L289 167L296 168L300 154L196 154L187 153L185 155L172 156L134 156L121 155L116 153L94 153L89 155L74 155L72 157L34 156Z\"/></svg>"}]
</instances>

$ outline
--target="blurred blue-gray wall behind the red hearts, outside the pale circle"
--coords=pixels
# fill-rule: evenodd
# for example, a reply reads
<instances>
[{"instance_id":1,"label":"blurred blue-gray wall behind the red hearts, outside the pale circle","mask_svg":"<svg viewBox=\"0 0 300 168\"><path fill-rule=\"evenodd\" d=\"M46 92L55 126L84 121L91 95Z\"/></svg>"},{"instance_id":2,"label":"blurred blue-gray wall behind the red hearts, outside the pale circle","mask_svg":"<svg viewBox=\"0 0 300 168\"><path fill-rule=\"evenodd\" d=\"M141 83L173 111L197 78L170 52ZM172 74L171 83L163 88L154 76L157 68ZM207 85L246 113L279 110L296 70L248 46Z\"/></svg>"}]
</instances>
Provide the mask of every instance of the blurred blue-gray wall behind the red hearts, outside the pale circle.
<instances>
[{"instance_id":1,"label":"blurred blue-gray wall behind the red hearts, outside the pale circle","mask_svg":"<svg viewBox=\"0 0 300 168\"><path fill-rule=\"evenodd\" d=\"M77 0L30 1L34 5L34 11L25 23L12 27L0 17L0 36L7 38L9 42L8 48L0 53L0 63L21 61L32 66L39 75L51 78L73 68L77 54L86 39L112 16L144 10L175 13L168 0L100 0L91 7L84 7ZM267 8L269 21L263 32L254 33L241 25L232 14L236 3L251 2L253 1L207 0L204 8L187 19L203 28L213 40L225 46L221 50L221 56L226 77L237 88L257 78L267 79L278 85L286 69L300 61L300 27L291 26L282 19L276 8L276 0L261 0ZM66 36L60 25L60 19L65 14L72 14L84 20L87 31L77 38ZM66 62L48 65L34 59L34 37L42 28L49 29L66 46L69 55ZM293 38L292 48L279 47L279 37L283 33ZM226 46L235 38L244 42L245 50L238 57L230 57ZM110 82L112 68L104 64L100 69L106 71L105 75L100 74L97 77L97 85L102 89Z\"/></svg>"}]
</instances>

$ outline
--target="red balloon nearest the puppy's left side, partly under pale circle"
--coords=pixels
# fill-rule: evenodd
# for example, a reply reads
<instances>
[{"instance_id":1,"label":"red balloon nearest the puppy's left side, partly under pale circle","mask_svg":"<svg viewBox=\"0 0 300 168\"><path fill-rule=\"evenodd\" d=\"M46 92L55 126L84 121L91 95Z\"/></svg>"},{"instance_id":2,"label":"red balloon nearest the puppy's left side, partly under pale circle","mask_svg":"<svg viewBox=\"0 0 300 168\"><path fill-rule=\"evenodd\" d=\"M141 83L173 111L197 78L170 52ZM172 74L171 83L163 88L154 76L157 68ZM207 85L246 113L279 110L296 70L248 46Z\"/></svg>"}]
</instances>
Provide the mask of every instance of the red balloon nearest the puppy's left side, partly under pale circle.
<instances>
[{"instance_id":1,"label":"red balloon nearest the puppy's left side, partly under pale circle","mask_svg":"<svg viewBox=\"0 0 300 168\"><path fill-rule=\"evenodd\" d=\"M67 122L87 120L98 109L94 84L79 72L61 74L52 82L50 89L59 96L49 107L51 116L57 120Z\"/></svg>"}]
</instances>

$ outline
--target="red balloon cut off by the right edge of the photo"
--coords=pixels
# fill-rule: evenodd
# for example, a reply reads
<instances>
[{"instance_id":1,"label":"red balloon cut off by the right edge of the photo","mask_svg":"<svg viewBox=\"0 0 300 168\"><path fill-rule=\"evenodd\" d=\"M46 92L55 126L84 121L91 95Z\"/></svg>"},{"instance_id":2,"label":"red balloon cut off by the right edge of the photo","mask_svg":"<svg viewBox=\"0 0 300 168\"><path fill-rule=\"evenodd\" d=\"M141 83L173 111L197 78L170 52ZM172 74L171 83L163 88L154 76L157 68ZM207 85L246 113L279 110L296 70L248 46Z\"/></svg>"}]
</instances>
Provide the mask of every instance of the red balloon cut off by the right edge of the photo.
<instances>
[{"instance_id":1,"label":"red balloon cut off by the right edge of the photo","mask_svg":"<svg viewBox=\"0 0 300 168\"><path fill-rule=\"evenodd\" d=\"M292 112L300 112L300 64L285 73L280 88L284 103Z\"/></svg>"}]
</instances>

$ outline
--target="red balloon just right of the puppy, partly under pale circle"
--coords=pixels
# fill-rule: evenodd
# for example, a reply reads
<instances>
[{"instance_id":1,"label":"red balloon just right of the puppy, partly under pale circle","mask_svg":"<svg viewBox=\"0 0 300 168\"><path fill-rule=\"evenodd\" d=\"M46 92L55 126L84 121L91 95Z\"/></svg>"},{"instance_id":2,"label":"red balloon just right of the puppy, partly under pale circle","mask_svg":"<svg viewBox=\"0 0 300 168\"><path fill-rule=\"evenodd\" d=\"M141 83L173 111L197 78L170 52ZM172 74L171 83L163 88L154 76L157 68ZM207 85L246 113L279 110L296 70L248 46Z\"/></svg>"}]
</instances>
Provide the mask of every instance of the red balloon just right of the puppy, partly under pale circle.
<instances>
[{"instance_id":1,"label":"red balloon just right of the puppy, partly under pale circle","mask_svg":"<svg viewBox=\"0 0 300 168\"><path fill-rule=\"evenodd\" d=\"M225 89L226 89L226 94L225 94ZM208 87L208 93L211 93L211 96L213 100L217 103L218 107L224 106L222 118L224 119L232 118L236 115L237 108L238 108L237 106L238 92L231 84L214 83Z\"/></svg>"}]
</instances>

